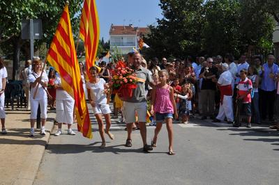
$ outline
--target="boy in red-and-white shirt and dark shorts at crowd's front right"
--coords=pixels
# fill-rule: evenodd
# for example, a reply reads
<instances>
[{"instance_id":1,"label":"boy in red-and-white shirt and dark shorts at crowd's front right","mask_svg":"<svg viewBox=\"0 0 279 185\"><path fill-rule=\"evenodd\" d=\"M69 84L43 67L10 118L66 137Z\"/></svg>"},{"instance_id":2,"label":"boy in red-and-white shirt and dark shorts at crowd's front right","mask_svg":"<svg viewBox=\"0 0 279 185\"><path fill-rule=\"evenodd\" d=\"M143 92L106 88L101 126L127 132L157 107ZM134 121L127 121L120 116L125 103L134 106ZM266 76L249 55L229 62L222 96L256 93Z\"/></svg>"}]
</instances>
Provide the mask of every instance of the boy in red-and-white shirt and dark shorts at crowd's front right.
<instances>
[{"instance_id":1,"label":"boy in red-and-white shirt and dark shorts at crowd's front right","mask_svg":"<svg viewBox=\"0 0 279 185\"><path fill-rule=\"evenodd\" d=\"M251 127L251 92L252 92L252 81L247 78L247 70L240 71L241 80L236 86L237 95L236 99L239 101L239 110L240 113L243 113L247 117L247 127ZM241 126L240 123L234 124L234 127Z\"/></svg>"}]
</instances>

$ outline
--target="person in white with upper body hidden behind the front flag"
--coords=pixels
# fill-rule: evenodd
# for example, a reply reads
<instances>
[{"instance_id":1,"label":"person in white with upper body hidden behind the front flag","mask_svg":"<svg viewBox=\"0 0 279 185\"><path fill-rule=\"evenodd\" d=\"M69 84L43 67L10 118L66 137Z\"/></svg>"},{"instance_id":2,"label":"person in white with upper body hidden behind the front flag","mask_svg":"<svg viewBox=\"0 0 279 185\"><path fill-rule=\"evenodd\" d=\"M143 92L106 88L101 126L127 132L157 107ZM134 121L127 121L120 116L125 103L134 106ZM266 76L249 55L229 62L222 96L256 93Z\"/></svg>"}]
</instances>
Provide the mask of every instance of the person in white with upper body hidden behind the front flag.
<instances>
[{"instance_id":1,"label":"person in white with upper body hidden behind the front flag","mask_svg":"<svg viewBox=\"0 0 279 185\"><path fill-rule=\"evenodd\" d=\"M56 121L58 122L58 131L54 136L62 134L62 123L68 124L68 134L75 135L75 132L71 129L74 122L73 112L75 107L75 100L71 97L66 90L63 90L61 86L61 78L56 77Z\"/></svg>"}]
</instances>

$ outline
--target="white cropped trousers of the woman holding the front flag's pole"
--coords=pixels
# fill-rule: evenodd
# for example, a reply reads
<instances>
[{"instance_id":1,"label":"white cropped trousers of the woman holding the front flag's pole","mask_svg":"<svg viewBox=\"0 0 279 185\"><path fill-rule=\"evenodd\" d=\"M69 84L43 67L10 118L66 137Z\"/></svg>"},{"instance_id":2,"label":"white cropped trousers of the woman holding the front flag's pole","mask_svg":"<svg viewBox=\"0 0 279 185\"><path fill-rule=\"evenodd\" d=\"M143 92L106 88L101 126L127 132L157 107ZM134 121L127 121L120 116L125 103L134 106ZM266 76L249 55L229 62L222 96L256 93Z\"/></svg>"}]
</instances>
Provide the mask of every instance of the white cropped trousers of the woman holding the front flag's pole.
<instances>
[{"instance_id":1,"label":"white cropped trousers of the woman holding the front flag's pole","mask_svg":"<svg viewBox=\"0 0 279 185\"><path fill-rule=\"evenodd\" d=\"M31 115L30 119L37 119L38 106L40 104L40 118L47 119L47 99L30 99Z\"/></svg>"}]
</instances>

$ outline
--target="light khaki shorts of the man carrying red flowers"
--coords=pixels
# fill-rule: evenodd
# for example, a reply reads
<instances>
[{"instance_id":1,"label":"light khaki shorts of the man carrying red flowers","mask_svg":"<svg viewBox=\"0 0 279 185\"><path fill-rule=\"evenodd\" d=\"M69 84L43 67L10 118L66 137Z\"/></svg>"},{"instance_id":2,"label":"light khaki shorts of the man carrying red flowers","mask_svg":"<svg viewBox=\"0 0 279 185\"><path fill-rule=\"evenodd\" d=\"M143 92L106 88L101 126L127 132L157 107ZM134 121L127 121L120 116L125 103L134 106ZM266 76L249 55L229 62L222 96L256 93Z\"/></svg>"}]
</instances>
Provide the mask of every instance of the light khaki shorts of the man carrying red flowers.
<instances>
[{"instance_id":1,"label":"light khaki shorts of the man carrying red flowers","mask_svg":"<svg viewBox=\"0 0 279 185\"><path fill-rule=\"evenodd\" d=\"M137 121L146 122L147 103L146 102L123 102L123 115L126 123L135 122L135 112L137 111Z\"/></svg>"}]
</instances>

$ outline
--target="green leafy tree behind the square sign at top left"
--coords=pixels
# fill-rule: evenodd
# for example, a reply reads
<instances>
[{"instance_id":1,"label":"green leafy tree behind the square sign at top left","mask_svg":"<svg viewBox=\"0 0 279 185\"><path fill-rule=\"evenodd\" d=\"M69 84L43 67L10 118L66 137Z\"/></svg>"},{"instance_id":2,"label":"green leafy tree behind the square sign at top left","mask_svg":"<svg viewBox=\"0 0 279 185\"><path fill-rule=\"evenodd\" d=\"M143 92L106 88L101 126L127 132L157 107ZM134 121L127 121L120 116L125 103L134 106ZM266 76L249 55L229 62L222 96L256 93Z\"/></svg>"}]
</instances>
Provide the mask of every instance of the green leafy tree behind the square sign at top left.
<instances>
[{"instance_id":1,"label":"green leafy tree behind the square sign at top left","mask_svg":"<svg viewBox=\"0 0 279 185\"><path fill-rule=\"evenodd\" d=\"M56 0L2 0L0 1L0 47L13 55L13 79L20 61L20 51L29 57L29 44L21 39L21 20L40 18L43 22L43 39L36 40L35 49L43 42L50 44L66 1ZM82 0L70 0L70 16L74 33L77 33ZM22 48L24 47L24 48ZM7 52L8 52L7 51Z\"/></svg>"}]
</instances>

